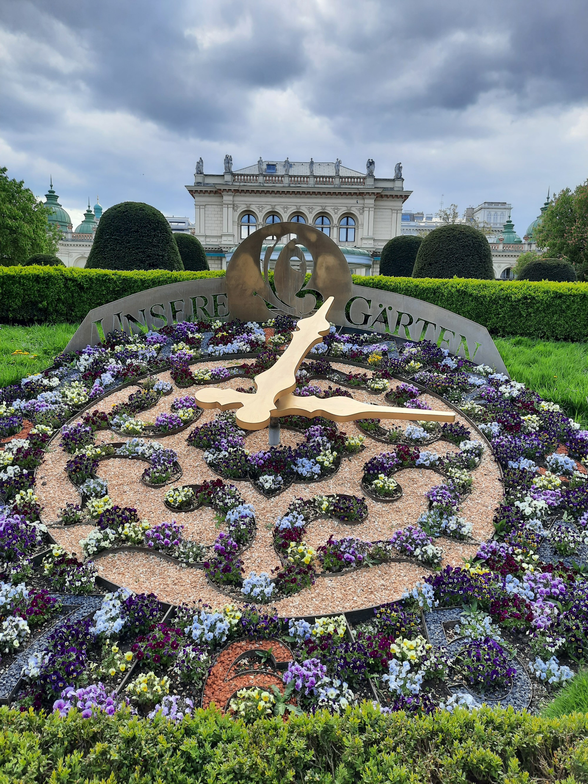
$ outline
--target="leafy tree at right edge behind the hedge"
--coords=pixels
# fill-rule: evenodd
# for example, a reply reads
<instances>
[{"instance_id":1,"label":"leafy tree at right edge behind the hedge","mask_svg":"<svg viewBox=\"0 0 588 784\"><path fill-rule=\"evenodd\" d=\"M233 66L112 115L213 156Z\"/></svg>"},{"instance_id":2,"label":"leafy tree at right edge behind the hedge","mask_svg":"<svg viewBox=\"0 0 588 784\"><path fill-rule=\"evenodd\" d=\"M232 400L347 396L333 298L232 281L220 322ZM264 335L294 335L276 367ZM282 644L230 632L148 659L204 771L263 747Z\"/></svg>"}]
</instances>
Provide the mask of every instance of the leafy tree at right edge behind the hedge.
<instances>
[{"instance_id":1,"label":"leafy tree at right edge behind the hedge","mask_svg":"<svg viewBox=\"0 0 588 784\"><path fill-rule=\"evenodd\" d=\"M571 191L564 188L550 201L535 229L546 256L568 259L578 280L588 279L588 180Z\"/></svg>"}]
</instances>

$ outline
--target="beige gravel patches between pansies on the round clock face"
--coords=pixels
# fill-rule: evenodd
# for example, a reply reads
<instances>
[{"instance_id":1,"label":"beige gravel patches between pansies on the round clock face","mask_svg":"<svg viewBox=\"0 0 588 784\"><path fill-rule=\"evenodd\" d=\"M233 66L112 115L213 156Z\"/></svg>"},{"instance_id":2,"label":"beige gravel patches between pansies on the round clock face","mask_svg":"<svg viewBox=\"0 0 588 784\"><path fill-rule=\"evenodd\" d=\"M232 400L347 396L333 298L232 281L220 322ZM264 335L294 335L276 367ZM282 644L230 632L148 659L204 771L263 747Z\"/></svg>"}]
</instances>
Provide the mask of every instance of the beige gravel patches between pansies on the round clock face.
<instances>
[{"instance_id":1,"label":"beige gravel patches between pansies on the round clock face","mask_svg":"<svg viewBox=\"0 0 588 784\"><path fill-rule=\"evenodd\" d=\"M238 361L218 361L210 363L211 367L218 365L239 364ZM348 365L334 364L334 367L344 372L352 369L360 372L361 368L350 368ZM170 380L169 372L158 376ZM316 380L319 387L327 387L328 382ZM400 383L400 382L397 382ZM220 388L248 387L247 379L233 379L218 385ZM331 386L333 386L331 384ZM113 402L125 401L133 391L133 387L115 392L96 406L100 410L108 411ZM175 389L168 397L163 397L157 406L147 412L142 412L140 419L153 421L159 412L169 411L173 398L185 394L194 394L194 387L187 390ZM361 401L385 403L383 394L373 395L365 391L354 390L354 397ZM423 396L432 408L451 410L448 406L438 401L437 398ZM204 423L216 416L214 411L205 411L198 424ZM461 417L456 420L470 427ZM405 426L406 423L402 423ZM348 434L359 433L354 423L344 423L340 426ZM159 437L166 447L176 450L180 466L183 468L183 477L180 484L198 483L207 478L212 478L212 472L206 466L200 449L187 444L187 435L191 428L180 434L169 437ZM96 434L96 442L122 441L122 437L102 430ZM282 444L295 446L303 440L302 434L292 430L282 429ZM43 520L55 521L59 509L64 503L78 503L79 496L64 472L64 465L69 456L57 445L54 445L39 467L38 495L44 506ZM259 430L249 434L245 439L245 447L251 452L267 446L267 430ZM236 481L245 502L252 503L256 510L257 534L252 547L243 554L245 573L251 570L256 572L269 572L279 565L278 557L272 544L271 528L276 517L284 514L292 499L296 497L309 498L317 493L349 493L363 495L361 492L362 466L367 459L392 448L366 437L365 449L351 459L343 459L338 473L326 481L310 485L292 485L289 490L274 499L265 499L263 495L245 481ZM434 442L431 450L445 454L447 451L456 451L456 447L445 441ZM110 459L100 463L98 475L107 480L108 492L114 503L120 506L135 507L140 517L158 523L175 517L184 525L184 535L202 543L212 543L216 538L214 513L205 508L191 513L173 514L163 505L164 490L147 488L140 482L146 464L140 461L127 459ZM471 495L462 505L462 514L474 526L474 539L487 539L492 534L492 516L495 506L502 497L502 485L499 482L499 469L492 455L486 449L481 465L474 470L474 488ZM396 475L404 495L394 503L378 503L366 499L368 504L368 517L362 524L346 525L332 520L318 520L307 528L307 541L311 546L318 547L324 544L329 535L341 537L345 535L358 536L361 539L385 539L398 528L406 524L415 523L419 514L427 508L424 493L433 485L440 484L443 478L432 470L408 469ZM42 485L46 481L46 485ZM90 526L75 526L72 528L51 528L57 541L69 550L79 554L78 541L91 530ZM444 564L459 565L463 560L472 557L476 552L475 544L459 543L454 540L442 538L440 544L444 550ZM223 604L225 598L206 583L205 575L200 569L180 568L174 564L166 563L156 557L138 553L111 554L97 561L100 575L114 583L124 584L131 590L153 591L163 601L174 604L182 601L206 601L209 604ZM334 576L332 578L318 578L309 590L289 597L277 604L282 614L303 613L314 614L317 612L336 612L369 607L384 601L393 601L401 597L405 588L412 586L429 570L418 564L383 564L378 567L359 570L350 575Z\"/></svg>"}]
</instances>

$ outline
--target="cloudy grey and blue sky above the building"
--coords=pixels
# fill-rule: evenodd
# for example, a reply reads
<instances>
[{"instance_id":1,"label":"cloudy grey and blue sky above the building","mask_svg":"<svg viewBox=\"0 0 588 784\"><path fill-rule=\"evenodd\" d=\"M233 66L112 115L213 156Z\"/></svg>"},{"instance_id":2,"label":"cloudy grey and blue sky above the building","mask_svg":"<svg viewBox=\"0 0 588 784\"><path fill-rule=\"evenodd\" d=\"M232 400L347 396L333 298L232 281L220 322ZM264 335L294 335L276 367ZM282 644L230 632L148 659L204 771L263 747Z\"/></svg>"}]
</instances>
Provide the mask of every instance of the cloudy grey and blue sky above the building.
<instances>
[{"instance_id":1,"label":"cloudy grey and blue sky above the building","mask_svg":"<svg viewBox=\"0 0 588 784\"><path fill-rule=\"evenodd\" d=\"M404 167L407 207L510 201L522 235L588 176L586 0L2 0L0 166L190 216L263 158Z\"/></svg>"}]
</instances>

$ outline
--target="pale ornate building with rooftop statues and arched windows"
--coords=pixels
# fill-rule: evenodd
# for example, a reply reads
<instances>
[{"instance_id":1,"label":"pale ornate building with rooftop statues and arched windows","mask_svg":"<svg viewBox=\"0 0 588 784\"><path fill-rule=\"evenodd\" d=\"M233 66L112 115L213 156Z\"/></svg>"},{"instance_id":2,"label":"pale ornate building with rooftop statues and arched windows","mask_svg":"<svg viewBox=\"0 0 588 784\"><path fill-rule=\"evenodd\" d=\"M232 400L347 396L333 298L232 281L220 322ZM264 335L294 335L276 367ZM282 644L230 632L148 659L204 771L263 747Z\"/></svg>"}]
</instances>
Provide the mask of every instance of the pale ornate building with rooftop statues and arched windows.
<instances>
[{"instance_id":1,"label":"pale ornate building with rooftop statues and arched windows","mask_svg":"<svg viewBox=\"0 0 588 784\"><path fill-rule=\"evenodd\" d=\"M228 158L228 156L227 156ZM232 172L204 174L194 185L194 234L211 269L226 269L227 256L260 225L289 220L309 223L328 234L356 274L378 274L379 253L401 233L405 191L396 178L374 176L336 163L260 161ZM172 227L173 228L173 227Z\"/></svg>"}]
</instances>

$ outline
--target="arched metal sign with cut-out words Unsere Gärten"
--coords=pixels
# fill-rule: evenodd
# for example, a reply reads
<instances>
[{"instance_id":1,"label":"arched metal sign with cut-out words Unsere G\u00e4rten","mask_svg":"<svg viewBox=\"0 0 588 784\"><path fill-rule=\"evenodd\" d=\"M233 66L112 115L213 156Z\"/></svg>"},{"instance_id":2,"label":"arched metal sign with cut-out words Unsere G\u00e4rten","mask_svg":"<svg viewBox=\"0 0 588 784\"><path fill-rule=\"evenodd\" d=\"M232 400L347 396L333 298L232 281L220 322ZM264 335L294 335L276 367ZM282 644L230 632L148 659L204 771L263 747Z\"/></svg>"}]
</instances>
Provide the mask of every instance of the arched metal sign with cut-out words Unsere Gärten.
<instances>
[{"instance_id":1,"label":"arched metal sign with cut-out words Unsere G\u00e4rten","mask_svg":"<svg viewBox=\"0 0 588 784\"><path fill-rule=\"evenodd\" d=\"M274 246L260 260L263 241L272 236L274 246L286 238L274 268L275 292L268 277ZM306 285L307 262L301 247L313 260ZM158 286L90 310L66 350L96 345L112 329L130 333L177 321L267 321L280 313L299 318L315 309L318 295L333 297L329 318L336 325L415 342L427 339L451 354L508 375L485 327L421 299L354 284L338 245L304 223L272 223L254 231L234 252L225 278Z\"/></svg>"}]
</instances>

